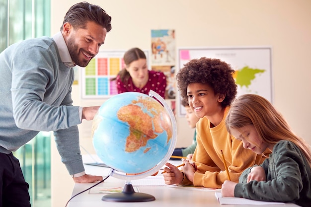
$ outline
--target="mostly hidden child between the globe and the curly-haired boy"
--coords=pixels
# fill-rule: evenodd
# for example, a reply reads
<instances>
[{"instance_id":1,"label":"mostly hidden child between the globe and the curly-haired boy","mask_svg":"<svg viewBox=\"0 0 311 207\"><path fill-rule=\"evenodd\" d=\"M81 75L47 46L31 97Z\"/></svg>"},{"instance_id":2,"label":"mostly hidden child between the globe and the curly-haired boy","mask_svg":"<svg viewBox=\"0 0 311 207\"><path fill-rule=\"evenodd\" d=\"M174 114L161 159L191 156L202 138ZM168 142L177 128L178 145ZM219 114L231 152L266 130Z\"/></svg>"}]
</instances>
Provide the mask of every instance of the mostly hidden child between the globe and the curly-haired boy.
<instances>
[{"instance_id":1,"label":"mostly hidden child between the globe and the curly-haired boy","mask_svg":"<svg viewBox=\"0 0 311 207\"><path fill-rule=\"evenodd\" d=\"M200 120L200 118L198 118L190 109L190 106L188 104L187 101L182 100L181 104L185 107L185 111L186 111L186 119L188 121L188 125L191 129L196 127L197 122ZM191 160L193 152L195 150L195 147L197 146L197 139L196 139L196 131L194 131L194 137L193 137L193 141L192 144L188 147L185 148L175 148L173 151L172 155L175 156L182 156L182 157L187 157L189 160ZM170 158L172 160L180 160L177 158Z\"/></svg>"}]
</instances>

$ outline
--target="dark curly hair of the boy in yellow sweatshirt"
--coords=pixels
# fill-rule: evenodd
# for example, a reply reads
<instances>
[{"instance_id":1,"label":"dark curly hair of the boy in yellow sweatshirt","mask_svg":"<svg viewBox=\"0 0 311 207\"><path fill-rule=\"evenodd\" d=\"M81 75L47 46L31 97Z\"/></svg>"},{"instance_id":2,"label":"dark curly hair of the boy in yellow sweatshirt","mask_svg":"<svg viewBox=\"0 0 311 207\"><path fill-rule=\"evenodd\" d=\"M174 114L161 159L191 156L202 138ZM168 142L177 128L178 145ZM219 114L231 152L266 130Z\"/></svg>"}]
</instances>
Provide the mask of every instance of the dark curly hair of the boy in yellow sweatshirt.
<instances>
[{"instance_id":1,"label":"dark curly hair of the boy in yellow sweatshirt","mask_svg":"<svg viewBox=\"0 0 311 207\"><path fill-rule=\"evenodd\" d=\"M200 58L186 63L176 75L177 86L181 97L188 101L187 87L190 83L206 83L215 94L226 94L222 107L229 106L236 95L236 84L233 79L234 69L219 59Z\"/></svg>"}]
</instances>

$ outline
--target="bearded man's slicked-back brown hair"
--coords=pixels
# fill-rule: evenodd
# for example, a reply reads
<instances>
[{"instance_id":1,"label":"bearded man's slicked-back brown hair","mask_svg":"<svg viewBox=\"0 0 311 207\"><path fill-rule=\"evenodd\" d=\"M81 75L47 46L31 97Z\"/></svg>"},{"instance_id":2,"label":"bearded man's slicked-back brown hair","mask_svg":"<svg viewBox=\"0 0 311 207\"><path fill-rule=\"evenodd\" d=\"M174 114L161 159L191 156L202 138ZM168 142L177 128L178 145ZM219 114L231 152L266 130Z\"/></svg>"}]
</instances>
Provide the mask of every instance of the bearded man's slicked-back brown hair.
<instances>
[{"instance_id":1,"label":"bearded man's slicked-back brown hair","mask_svg":"<svg viewBox=\"0 0 311 207\"><path fill-rule=\"evenodd\" d=\"M106 28L107 32L111 30L111 16L100 6L83 1L76 3L67 11L61 31L66 22L69 22L74 28L85 28L86 23L89 21Z\"/></svg>"}]
</instances>

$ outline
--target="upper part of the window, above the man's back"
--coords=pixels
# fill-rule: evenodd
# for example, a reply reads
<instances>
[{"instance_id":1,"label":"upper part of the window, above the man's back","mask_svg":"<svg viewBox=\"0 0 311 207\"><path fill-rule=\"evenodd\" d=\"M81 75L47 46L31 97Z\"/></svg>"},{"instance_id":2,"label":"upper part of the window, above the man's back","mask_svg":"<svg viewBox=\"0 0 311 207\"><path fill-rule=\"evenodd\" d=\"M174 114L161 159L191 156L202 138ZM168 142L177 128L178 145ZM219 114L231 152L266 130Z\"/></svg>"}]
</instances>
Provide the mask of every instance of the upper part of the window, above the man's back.
<instances>
[{"instance_id":1,"label":"upper part of the window, above the man's back","mask_svg":"<svg viewBox=\"0 0 311 207\"><path fill-rule=\"evenodd\" d=\"M21 40L50 34L50 0L0 0L0 52Z\"/></svg>"}]
</instances>

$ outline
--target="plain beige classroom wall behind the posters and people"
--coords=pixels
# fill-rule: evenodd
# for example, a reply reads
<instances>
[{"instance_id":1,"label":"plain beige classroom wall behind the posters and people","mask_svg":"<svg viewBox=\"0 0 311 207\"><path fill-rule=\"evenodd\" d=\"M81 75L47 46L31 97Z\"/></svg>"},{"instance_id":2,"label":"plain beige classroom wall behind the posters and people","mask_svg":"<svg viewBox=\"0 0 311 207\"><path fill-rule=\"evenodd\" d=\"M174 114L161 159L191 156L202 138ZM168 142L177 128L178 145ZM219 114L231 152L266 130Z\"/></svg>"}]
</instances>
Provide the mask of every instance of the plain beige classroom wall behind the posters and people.
<instances>
[{"instance_id":1,"label":"plain beige classroom wall behind the posters and people","mask_svg":"<svg viewBox=\"0 0 311 207\"><path fill-rule=\"evenodd\" d=\"M52 34L77 0L51 0ZM112 16L112 30L102 49L149 49L151 29L175 29L176 47L271 46L273 102L293 130L311 144L310 0L92 0ZM52 35L51 34L51 35ZM177 66L177 63L176 63ZM75 105L101 105L81 100L73 87ZM178 118L178 146L192 138L184 118ZM91 122L79 126L81 144L93 151ZM52 207L64 206L74 186L52 143ZM83 150L82 150L82 153Z\"/></svg>"}]
</instances>

